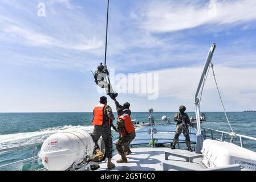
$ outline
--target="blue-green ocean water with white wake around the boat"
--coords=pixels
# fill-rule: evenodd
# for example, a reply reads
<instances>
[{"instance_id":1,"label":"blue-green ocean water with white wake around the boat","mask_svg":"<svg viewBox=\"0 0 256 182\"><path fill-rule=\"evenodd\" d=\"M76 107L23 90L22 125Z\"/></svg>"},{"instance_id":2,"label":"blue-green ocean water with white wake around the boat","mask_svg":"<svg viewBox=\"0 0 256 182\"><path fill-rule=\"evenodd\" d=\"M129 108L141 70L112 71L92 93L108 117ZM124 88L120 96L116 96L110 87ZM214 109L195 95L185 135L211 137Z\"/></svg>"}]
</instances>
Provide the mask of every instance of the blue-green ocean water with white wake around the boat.
<instances>
[{"instance_id":1,"label":"blue-green ocean water with white wake around the boat","mask_svg":"<svg viewBox=\"0 0 256 182\"><path fill-rule=\"evenodd\" d=\"M174 114L174 112L156 112L153 113L153 116L156 122L161 122L163 115L172 120ZM188 114L190 117L195 116L194 113ZM224 113L205 112L205 114L207 121L202 124L202 127L230 132ZM227 115L235 133L256 137L256 113L230 112ZM0 149L43 142L51 134L59 132L92 131L92 117L92 113L0 113ZM132 113L132 119L136 119L136 122L140 123L148 122L148 113ZM172 123L174 124L174 122ZM210 135L210 132L206 131L206 134ZM220 137L220 134L214 133L214 137ZM117 139L117 134L113 132L113 140L115 139ZM226 140L229 139L226 136ZM239 143L239 138L235 138L234 143ZM244 147L256 151L255 141L245 139L243 144ZM39 152L40 146L36 150ZM29 158L32 156L31 152L32 148L2 152L0 153L0 166ZM36 168L42 167L40 160L36 161ZM30 170L30 168L31 162L3 170Z\"/></svg>"}]
</instances>

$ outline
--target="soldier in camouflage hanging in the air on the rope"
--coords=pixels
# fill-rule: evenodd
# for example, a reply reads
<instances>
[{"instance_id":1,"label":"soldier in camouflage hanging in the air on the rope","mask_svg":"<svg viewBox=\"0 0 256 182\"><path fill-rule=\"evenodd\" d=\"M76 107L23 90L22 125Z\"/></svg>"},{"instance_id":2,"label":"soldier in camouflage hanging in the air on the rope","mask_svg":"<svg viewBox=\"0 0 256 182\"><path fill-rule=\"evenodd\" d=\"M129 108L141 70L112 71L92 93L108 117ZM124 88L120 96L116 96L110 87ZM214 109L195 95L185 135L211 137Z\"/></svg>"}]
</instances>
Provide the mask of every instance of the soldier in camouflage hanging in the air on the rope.
<instances>
[{"instance_id":1,"label":"soldier in camouflage hanging in the air on the rope","mask_svg":"<svg viewBox=\"0 0 256 182\"><path fill-rule=\"evenodd\" d=\"M107 83L107 81L104 80L105 76L109 75L108 69L106 65L100 65L97 67L96 71L94 72L94 78L95 82L100 88L105 88L106 93L111 97L111 98L116 98L118 93L114 93L112 86Z\"/></svg>"}]
</instances>

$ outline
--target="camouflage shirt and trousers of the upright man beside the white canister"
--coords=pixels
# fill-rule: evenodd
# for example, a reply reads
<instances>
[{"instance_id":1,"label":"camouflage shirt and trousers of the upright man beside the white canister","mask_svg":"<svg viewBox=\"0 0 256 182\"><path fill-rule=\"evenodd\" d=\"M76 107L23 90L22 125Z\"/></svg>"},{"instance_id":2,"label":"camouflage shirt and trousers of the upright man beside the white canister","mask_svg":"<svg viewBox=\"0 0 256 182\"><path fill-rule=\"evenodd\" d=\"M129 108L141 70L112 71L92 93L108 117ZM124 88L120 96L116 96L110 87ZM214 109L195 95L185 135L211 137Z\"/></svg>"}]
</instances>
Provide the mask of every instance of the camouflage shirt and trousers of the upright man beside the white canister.
<instances>
[{"instance_id":1,"label":"camouflage shirt and trousers of the upright man beside the white canister","mask_svg":"<svg viewBox=\"0 0 256 182\"><path fill-rule=\"evenodd\" d=\"M107 158L112 158L112 135L111 135L111 126L109 126L108 118L112 121L115 120L115 117L112 113L112 109L110 106L106 106L103 110L103 124L101 126L94 126L94 132L92 133L92 139L94 140L95 147L94 151L99 147L97 141L102 136L104 144L105 144L105 152L107 154Z\"/></svg>"}]
</instances>

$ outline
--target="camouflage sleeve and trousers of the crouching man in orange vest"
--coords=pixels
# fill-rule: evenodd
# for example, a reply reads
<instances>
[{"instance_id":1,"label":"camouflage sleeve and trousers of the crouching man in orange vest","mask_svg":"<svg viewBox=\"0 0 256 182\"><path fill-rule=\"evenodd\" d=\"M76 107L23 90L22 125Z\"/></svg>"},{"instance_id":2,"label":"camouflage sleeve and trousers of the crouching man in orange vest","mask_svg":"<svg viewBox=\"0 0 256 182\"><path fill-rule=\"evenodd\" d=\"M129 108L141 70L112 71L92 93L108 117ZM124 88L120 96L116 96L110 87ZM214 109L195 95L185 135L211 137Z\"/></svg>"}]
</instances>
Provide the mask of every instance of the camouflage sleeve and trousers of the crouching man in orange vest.
<instances>
[{"instance_id":1,"label":"camouflage sleeve and trousers of the crouching man in orange vest","mask_svg":"<svg viewBox=\"0 0 256 182\"><path fill-rule=\"evenodd\" d=\"M121 133L123 128L124 128L123 119L121 118L117 119L117 126L116 126L117 132ZM118 151L118 154L122 156L124 155L124 152L129 151L130 150L129 145L135 137L136 137L135 131L133 131L130 134L126 134L124 136L120 135L120 138L116 142L116 150Z\"/></svg>"}]
</instances>

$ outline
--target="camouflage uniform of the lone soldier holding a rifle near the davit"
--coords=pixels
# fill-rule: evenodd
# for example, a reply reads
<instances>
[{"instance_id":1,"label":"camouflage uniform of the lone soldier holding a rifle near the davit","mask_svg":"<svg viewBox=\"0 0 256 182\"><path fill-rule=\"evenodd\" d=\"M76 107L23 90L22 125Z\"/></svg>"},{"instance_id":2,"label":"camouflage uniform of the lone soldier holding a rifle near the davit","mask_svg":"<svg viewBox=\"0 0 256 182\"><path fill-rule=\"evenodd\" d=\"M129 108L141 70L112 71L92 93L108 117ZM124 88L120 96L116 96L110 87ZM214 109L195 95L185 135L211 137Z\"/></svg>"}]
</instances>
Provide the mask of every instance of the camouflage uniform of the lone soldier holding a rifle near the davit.
<instances>
[{"instance_id":1,"label":"camouflage uniform of the lone soldier holding a rifle near the davit","mask_svg":"<svg viewBox=\"0 0 256 182\"><path fill-rule=\"evenodd\" d=\"M182 123L182 118L183 118L186 126ZM178 119L180 119L180 120L178 120ZM186 114L186 113L184 113L184 114L177 113L177 114L174 115L173 120L175 122L177 122L176 133L175 133L175 136L173 138L173 146L175 146L177 144L178 137L180 136L181 132L183 131L183 135L186 138L186 146L189 147L190 146L190 138L189 138L188 124L190 122L190 119L189 119L188 114Z\"/></svg>"}]
</instances>

